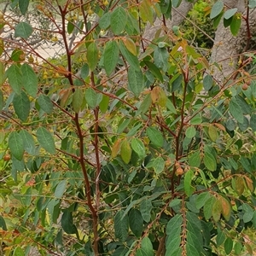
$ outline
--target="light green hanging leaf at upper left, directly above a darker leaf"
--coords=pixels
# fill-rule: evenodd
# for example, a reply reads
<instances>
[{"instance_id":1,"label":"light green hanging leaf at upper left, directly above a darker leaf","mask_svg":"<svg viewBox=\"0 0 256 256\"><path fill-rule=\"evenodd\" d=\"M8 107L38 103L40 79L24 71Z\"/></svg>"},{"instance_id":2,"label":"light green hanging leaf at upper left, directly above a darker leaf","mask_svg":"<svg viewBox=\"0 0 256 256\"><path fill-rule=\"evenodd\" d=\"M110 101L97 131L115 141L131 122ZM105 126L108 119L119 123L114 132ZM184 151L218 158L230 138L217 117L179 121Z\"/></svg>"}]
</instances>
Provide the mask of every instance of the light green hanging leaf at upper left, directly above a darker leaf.
<instances>
[{"instance_id":1,"label":"light green hanging leaf at upper left, directly above a darker leaf","mask_svg":"<svg viewBox=\"0 0 256 256\"><path fill-rule=\"evenodd\" d=\"M20 68L22 72L22 81L26 92L32 96L36 97L38 93L38 77L34 73L32 67L28 64L23 64Z\"/></svg>"}]
</instances>

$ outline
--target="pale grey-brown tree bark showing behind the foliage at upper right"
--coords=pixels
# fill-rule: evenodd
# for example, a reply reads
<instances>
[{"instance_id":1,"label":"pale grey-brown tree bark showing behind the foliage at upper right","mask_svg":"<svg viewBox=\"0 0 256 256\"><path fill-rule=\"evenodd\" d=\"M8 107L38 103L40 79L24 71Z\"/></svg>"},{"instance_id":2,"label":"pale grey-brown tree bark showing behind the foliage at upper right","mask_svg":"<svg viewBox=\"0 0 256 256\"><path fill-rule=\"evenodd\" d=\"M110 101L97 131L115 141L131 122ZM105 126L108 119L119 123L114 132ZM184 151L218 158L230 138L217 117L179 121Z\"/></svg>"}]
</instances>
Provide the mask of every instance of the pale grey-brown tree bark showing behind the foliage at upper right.
<instances>
[{"instance_id":1,"label":"pale grey-brown tree bark showing behind the foliage at upper right","mask_svg":"<svg viewBox=\"0 0 256 256\"><path fill-rule=\"evenodd\" d=\"M210 62L218 63L219 68L212 65L213 77L219 83L222 83L224 79L229 79L230 76L236 71L237 62L239 61L239 54L244 50L247 50L248 27L244 18L247 17L247 6L245 0L224 0L224 6L226 9L237 8L238 12L242 14L241 29L239 34L234 37L230 32L230 27L225 28L223 20L220 21L218 29L215 33L214 45L212 47L212 55ZM172 20L166 20L166 32L172 29L172 26L178 26L184 20L188 14L189 9L192 8L192 3L185 0L181 5L175 9L172 9ZM256 32L256 10L251 9L249 11L249 29L251 34ZM146 26L143 38L150 42L154 39L155 33L162 28L163 20L157 18L154 21L154 25Z\"/></svg>"}]
</instances>

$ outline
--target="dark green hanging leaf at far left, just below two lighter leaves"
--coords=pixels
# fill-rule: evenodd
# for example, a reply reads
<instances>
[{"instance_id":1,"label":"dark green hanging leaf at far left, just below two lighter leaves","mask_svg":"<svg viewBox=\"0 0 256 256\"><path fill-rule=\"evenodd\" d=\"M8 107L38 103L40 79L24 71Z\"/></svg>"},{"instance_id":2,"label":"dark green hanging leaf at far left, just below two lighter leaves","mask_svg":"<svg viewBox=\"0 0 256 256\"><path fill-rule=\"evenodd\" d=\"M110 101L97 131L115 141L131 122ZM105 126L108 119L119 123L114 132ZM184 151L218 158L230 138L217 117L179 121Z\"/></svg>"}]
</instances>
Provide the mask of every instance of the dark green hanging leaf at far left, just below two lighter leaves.
<instances>
[{"instance_id":1,"label":"dark green hanging leaf at far left, just below two lighter leaves","mask_svg":"<svg viewBox=\"0 0 256 256\"><path fill-rule=\"evenodd\" d=\"M13 104L15 113L21 121L25 122L30 112L30 101L26 93L21 91L20 95L15 94Z\"/></svg>"}]
</instances>

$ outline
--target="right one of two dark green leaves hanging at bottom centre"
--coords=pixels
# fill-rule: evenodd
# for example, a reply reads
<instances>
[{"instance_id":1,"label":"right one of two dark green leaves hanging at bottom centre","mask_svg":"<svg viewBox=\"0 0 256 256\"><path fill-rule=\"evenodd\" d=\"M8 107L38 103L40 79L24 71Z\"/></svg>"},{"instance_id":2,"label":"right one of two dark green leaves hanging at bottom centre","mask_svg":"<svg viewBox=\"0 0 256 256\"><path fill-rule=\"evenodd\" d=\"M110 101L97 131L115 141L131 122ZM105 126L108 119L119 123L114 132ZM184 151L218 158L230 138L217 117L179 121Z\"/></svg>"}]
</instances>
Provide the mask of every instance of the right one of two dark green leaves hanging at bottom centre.
<instances>
[{"instance_id":1,"label":"right one of two dark green leaves hanging at bottom centre","mask_svg":"<svg viewBox=\"0 0 256 256\"><path fill-rule=\"evenodd\" d=\"M139 210L136 208L131 209L131 212L129 213L129 225L131 232L137 236L140 237L143 234L143 217Z\"/></svg>"}]
</instances>

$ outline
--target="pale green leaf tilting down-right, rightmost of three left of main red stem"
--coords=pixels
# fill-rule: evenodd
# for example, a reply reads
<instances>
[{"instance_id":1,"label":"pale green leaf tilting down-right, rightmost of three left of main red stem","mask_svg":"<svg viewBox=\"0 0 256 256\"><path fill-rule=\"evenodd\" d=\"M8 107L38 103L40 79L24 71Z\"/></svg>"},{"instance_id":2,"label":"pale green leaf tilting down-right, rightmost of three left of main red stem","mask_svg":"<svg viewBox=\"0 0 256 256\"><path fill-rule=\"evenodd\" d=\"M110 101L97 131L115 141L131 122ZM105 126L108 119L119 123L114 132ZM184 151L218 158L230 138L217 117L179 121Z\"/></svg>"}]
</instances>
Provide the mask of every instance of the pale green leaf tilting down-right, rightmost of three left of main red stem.
<instances>
[{"instance_id":1,"label":"pale green leaf tilting down-right, rightmost of three left of main red stem","mask_svg":"<svg viewBox=\"0 0 256 256\"><path fill-rule=\"evenodd\" d=\"M38 143L49 154L56 154L55 141L51 133L44 127L39 127L37 130Z\"/></svg>"}]
</instances>

